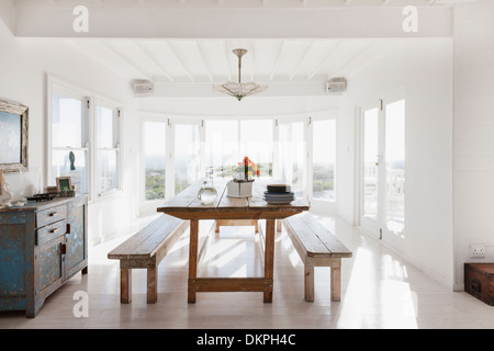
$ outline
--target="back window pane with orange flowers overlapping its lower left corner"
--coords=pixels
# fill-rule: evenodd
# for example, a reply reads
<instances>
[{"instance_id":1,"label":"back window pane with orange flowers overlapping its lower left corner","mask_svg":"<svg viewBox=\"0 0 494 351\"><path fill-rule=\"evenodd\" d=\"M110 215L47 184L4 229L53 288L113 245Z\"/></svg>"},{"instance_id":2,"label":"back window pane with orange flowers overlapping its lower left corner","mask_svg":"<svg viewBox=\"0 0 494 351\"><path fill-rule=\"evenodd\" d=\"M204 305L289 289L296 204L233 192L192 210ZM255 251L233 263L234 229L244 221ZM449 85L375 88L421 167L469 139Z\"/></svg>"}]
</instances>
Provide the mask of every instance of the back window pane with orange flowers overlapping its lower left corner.
<instances>
[{"instance_id":1,"label":"back window pane with orange flowers overlapping its lower left corner","mask_svg":"<svg viewBox=\"0 0 494 351\"><path fill-rule=\"evenodd\" d=\"M240 152L259 169L259 177L272 176L272 120L240 122Z\"/></svg>"}]
</instances>

